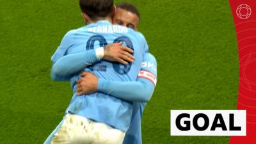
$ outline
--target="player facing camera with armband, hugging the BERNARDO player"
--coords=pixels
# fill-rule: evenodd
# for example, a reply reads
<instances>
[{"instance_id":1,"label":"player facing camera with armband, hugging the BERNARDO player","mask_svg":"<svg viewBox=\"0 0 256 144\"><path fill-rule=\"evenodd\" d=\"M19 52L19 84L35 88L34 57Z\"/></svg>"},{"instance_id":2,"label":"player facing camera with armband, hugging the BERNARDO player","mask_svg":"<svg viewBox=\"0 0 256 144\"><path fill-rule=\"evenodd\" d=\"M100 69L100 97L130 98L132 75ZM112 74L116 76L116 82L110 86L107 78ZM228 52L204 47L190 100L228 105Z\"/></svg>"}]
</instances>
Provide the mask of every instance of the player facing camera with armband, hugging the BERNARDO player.
<instances>
[{"instance_id":1,"label":"player facing camera with armband, hugging the BERNARDO player","mask_svg":"<svg viewBox=\"0 0 256 144\"><path fill-rule=\"evenodd\" d=\"M140 20L140 14L138 10L129 3L119 4L115 13L113 22L117 24L123 24L133 29L138 28L138 22ZM65 58L66 57L66 58ZM72 58L73 57L73 58ZM79 58L81 57L81 58ZM73 56L64 56L59 62L56 63L55 68L60 68L61 75L70 77L72 72L79 72L81 67L90 65L84 58L83 54L74 54ZM77 63L80 61L80 63ZM65 65L63 65L65 63ZM85 63L85 64L83 64ZM61 64L61 65L60 65ZM78 69L77 69L78 68ZM79 84L84 86L80 93L92 93L99 92L108 93L120 99L129 100L134 102L131 127L125 135L124 143L127 144L140 144L141 141L141 117L147 102L152 93L154 92L154 86L156 86L156 60L152 54L145 54L143 57L143 65L137 82L116 82L106 81L104 79L99 80L97 77L90 73L82 74L83 79L79 80ZM86 83L87 82L87 83ZM79 89L79 88L78 88ZM79 91L79 90L78 90Z\"/></svg>"}]
</instances>

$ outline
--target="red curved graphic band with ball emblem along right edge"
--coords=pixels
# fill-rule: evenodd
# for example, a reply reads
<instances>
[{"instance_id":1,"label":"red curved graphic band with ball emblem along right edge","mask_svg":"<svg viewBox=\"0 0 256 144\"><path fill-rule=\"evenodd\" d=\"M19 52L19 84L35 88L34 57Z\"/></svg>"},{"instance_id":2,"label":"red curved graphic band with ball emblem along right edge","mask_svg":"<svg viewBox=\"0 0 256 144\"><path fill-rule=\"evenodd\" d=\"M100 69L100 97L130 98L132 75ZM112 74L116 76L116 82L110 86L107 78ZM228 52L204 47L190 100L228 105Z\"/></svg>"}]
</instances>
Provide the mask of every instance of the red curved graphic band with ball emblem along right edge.
<instances>
[{"instance_id":1,"label":"red curved graphic band with ball emblem along right edge","mask_svg":"<svg viewBox=\"0 0 256 144\"><path fill-rule=\"evenodd\" d=\"M229 0L239 51L237 109L246 109L246 136L232 136L229 144L256 144L256 1Z\"/></svg>"}]
</instances>

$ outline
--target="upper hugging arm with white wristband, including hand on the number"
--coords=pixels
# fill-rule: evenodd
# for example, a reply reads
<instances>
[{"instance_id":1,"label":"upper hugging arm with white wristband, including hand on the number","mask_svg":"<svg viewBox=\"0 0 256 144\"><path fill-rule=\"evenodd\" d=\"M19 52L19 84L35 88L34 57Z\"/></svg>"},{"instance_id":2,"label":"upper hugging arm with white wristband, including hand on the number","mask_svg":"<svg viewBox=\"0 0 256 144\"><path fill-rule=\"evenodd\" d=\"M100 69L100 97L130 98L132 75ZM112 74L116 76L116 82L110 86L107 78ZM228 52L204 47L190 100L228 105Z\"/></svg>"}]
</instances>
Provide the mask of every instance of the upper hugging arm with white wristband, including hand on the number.
<instances>
[{"instance_id":1,"label":"upper hugging arm with white wristband, including hand on the number","mask_svg":"<svg viewBox=\"0 0 256 144\"><path fill-rule=\"evenodd\" d=\"M127 65L133 62L132 49L122 46L122 42L109 44L106 47L80 52L77 54L69 54L61 57L54 65L52 65L52 79L58 81L63 77L69 79L73 74L80 72L84 68L93 65L100 60L116 61Z\"/></svg>"}]
</instances>

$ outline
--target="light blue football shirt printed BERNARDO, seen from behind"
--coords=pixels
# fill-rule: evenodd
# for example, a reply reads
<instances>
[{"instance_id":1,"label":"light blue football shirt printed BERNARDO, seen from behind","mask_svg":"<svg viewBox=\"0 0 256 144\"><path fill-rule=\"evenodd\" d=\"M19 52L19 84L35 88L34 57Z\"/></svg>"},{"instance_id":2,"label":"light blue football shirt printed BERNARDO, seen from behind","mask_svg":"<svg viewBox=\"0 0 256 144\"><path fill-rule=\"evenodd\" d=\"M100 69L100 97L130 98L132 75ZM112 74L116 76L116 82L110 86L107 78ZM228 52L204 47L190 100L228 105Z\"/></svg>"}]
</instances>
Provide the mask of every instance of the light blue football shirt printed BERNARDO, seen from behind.
<instances>
[{"instance_id":1,"label":"light blue football shirt printed BERNARDO, seen from behind","mask_svg":"<svg viewBox=\"0 0 256 144\"><path fill-rule=\"evenodd\" d=\"M52 56L52 61L56 62L67 54L76 54L120 41L134 49L133 54L136 60L133 63L121 65L99 61L92 67L85 68L84 71L92 72L95 76L109 81L136 81L143 54L148 51L144 36L137 31L123 26L115 26L104 20L69 31ZM131 122L132 102L117 99L104 93L92 93L77 97L77 79L79 79L79 73L71 79L74 95L68 106L68 112L96 122L103 122L121 131L127 131Z\"/></svg>"}]
</instances>

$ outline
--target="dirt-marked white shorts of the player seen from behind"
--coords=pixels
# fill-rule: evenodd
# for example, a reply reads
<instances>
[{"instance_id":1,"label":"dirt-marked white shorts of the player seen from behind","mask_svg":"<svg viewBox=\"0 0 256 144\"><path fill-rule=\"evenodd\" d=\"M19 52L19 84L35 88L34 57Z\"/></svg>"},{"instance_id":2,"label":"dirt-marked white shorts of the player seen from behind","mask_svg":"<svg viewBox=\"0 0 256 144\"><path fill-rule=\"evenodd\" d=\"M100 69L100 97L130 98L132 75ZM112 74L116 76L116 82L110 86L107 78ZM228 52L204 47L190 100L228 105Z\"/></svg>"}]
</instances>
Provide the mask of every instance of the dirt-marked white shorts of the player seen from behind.
<instances>
[{"instance_id":1,"label":"dirt-marked white shorts of the player seen from behind","mask_svg":"<svg viewBox=\"0 0 256 144\"><path fill-rule=\"evenodd\" d=\"M109 125L67 114L51 144L122 144L124 136L125 132Z\"/></svg>"}]
</instances>

